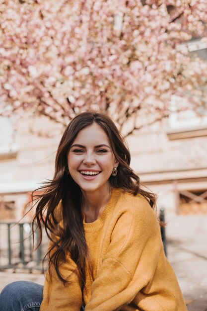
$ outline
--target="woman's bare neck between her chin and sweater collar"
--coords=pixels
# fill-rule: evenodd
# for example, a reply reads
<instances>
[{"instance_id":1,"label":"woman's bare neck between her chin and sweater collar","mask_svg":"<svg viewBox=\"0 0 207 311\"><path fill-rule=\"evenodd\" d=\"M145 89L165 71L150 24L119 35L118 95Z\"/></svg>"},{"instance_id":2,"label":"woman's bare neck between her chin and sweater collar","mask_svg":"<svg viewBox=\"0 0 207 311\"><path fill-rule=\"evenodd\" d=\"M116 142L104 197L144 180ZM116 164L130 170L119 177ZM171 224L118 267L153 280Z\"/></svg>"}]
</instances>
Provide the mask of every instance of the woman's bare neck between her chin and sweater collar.
<instances>
[{"instance_id":1,"label":"woman's bare neck between her chin and sweater collar","mask_svg":"<svg viewBox=\"0 0 207 311\"><path fill-rule=\"evenodd\" d=\"M85 222L92 223L101 217L106 205L111 198L111 187L96 192L83 192L82 209L85 215Z\"/></svg>"}]
</instances>

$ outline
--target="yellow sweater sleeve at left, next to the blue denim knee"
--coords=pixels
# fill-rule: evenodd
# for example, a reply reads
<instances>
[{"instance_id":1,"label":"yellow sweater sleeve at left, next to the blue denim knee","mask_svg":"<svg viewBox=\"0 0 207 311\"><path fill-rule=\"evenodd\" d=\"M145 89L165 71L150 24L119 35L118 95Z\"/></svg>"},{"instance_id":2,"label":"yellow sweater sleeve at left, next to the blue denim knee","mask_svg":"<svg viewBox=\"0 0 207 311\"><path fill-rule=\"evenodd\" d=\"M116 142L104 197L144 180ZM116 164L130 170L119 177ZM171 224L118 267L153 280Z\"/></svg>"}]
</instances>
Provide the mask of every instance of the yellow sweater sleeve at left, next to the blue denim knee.
<instances>
[{"instance_id":1,"label":"yellow sweater sleeve at left, next to the blue denim knee","mask_svg":"<svg viewBox=\"0 0 207 311\"><path fill-rule=\"evenodd\" d=\"M69 280L64 285L57 276L54 265L47 271L40 311L80 311L82 292L76 264L71 258L60 265L62 276Z\"/></svg>"}]
</instances>

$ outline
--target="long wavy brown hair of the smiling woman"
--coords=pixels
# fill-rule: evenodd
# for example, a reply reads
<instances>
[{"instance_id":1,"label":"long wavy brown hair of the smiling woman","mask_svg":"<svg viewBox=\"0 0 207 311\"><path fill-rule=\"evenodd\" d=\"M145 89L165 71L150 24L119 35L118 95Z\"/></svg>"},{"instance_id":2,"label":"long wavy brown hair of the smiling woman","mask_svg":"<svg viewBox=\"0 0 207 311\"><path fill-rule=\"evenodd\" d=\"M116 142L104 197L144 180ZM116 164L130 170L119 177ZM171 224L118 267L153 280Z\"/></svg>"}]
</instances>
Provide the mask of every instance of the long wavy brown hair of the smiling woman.
<instances>
[{"instance_id":1,"label":"long wavy brown hair of the smiling woman","mask_svg":"<svg viewBox=\"0 0 207 311\"><path fill-rule=\"evenodd\" d=\"M67 156L77 134L94 122L107 134L114 156L119 162L117 176L109 178L111 187L121 188L134 195L140 193L152 208L155 205L155 195L140 188L139 177L130 167L129 149L114 122L108 116L97 112L83 112L72 119L58 147L53 179L37 189L42 190L42 194L35 194L35 191L33 193L33 197L38 199L33 231L37 224L41 243L42 227L45 229L52 245L47 253L49 270L51 264L54 264L56 273L64 284L68 280L63 278L59 267L66 259L67 253L70 253L71 259L76 263L83 285L86 261L89 258L81 214L82 193L68 174Z\"/></svg>"}]
</instances>

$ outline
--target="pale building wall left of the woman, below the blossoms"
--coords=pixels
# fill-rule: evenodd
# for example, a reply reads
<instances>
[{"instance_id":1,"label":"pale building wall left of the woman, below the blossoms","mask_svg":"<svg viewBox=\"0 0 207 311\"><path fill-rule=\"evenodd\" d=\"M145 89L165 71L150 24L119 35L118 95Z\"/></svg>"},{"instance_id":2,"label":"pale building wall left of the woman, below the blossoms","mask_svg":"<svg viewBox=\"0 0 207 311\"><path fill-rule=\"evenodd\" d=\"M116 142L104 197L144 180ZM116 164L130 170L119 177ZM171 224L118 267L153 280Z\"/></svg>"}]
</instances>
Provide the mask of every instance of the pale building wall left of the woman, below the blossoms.
<instances>
[{"instance_id":1,"label":"pale building wall left of the woman, below the blossoms","mask_svg":"<svg viewBox=\"0 0 207 311\"><path fill-rule=\"evenodd\" d=\"M0 118L0 221L18 221L31 192L53 176L62 127L45 117L6 121Z\"/></svg>"}]
</instances>

